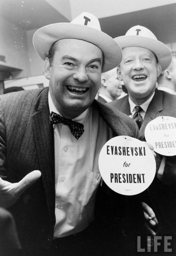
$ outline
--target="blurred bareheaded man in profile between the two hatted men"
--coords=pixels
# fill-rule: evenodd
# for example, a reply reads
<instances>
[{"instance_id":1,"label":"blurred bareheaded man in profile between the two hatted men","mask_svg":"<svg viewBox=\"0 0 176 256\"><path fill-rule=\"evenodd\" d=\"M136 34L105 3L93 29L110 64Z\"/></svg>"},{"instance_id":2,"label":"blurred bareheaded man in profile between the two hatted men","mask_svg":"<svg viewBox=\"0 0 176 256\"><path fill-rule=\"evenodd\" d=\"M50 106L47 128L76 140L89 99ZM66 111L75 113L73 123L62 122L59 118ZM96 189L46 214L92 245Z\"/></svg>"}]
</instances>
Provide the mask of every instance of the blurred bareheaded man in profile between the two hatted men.
<instances>
[{"instance_id":1,"label":"blurred bareheaded man in profile between the two hatted men","mask_svg":"<svg viewBox=\"0 0 176 256\"><path fill-rule=\"evenodd\" d=\"M117 67L101 74L101 85L98 101L111 102L121 95L121 81L117 77Z\"/></svg>"}]
</instances>

